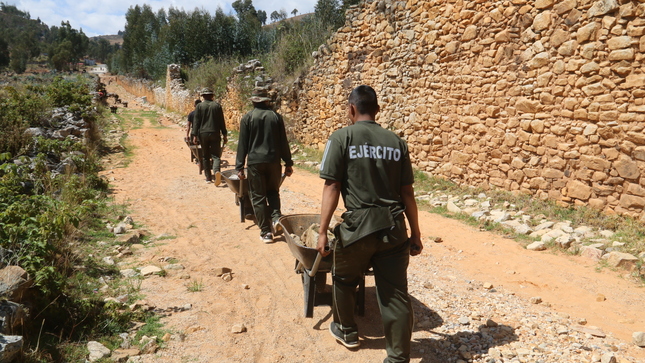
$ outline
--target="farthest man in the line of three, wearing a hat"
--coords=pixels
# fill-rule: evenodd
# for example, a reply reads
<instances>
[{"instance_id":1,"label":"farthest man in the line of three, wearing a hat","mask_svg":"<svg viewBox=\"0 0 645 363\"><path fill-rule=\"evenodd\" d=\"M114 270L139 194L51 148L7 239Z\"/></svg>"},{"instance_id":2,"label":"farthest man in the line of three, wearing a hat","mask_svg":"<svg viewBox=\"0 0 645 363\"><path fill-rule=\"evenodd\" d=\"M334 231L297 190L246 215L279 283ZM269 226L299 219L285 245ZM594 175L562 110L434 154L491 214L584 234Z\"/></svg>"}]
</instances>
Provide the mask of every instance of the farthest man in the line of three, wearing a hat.
<instances>
[{"instance_id":1,"label":"farthest man in the line of three, wearing a hat","mask_svg":"<svg viewBox=\"0 0 645 363\"><path fill-rule=\"evenodd\" d=\"M204 88L201 95L204 98L204 102L195 107L191 135L193 136L193 143L195 145L198 141L202 145L206 182L211 183L213 181L211 174L212 167L215 173L215 185L217 186L222 182L222 176L220 174L222 144L225 145L228 141L226 122L224 121L222 106L213 101L213 91L210 88Z\"/></svg>"}]
</instances>

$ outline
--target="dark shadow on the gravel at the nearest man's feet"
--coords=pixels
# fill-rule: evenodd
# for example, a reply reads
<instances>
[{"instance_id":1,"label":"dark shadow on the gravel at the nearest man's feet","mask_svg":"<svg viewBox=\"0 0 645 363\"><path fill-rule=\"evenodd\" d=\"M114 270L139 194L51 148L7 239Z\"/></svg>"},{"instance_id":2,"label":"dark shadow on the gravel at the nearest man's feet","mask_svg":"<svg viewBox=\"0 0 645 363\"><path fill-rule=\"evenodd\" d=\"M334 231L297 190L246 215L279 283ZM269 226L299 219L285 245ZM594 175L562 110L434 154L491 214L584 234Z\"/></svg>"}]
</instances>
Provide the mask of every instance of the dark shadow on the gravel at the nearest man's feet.
<instances>
[{"instance_id":1,"label":"dark shadow on the gravel at the nearest man's feet","mask_svg":"<svg viewBox=\"0 0 645 363\"><path fill-rule=\"evenodd\" d=\"M329 286L328 286L329 288ZM373 286L365 289L365 315L357 316L361 346L359 349L383 350L385 355L385 338L383 325L376 300L376 288ZM444 324L461 326L459 322L446 322L434 310L424 305L412 296L414 308L414 331L426 331L434 337L412 340L412 358L421 358L422 363L445 363L462 359L469 361L469 354L487 354L488 349L517 341L515 329L508 325L497 324L492 321L471 321L470 325L463 326L463 330L454 334L444 334L434 331ZM326 307L320 307L326 308ZM327 329L331 321L331 310L321 320L315 323L315 329ZM460 352L461 346L469 347ZM384 356L385 357L385 356Z\"/></svg>"}]
</instances>

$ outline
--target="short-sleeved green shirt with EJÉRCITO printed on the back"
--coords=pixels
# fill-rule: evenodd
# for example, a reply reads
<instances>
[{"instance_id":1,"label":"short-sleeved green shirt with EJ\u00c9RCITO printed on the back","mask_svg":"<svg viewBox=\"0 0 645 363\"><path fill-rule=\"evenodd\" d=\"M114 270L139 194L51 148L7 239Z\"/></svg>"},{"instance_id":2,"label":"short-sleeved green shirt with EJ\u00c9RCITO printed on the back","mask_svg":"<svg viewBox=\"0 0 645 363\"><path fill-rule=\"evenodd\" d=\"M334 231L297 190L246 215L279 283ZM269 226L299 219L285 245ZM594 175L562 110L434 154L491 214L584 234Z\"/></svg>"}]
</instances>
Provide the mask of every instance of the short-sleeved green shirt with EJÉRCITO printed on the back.
<instances>
[{"instance_id":1,"label":"short-sleeved green shirt with EJ\u00c9RCITO printed on the back","mask_svg":"<svg viewBox=\"0 0 645 363\"><path fill-rule=\"evenodd\" d=\"M320 177L341 183L348 211L371 207L401 211L401 187L414 183L407 144L374 121L359 121L329 137Z\"/></svg>"}]
</instances>

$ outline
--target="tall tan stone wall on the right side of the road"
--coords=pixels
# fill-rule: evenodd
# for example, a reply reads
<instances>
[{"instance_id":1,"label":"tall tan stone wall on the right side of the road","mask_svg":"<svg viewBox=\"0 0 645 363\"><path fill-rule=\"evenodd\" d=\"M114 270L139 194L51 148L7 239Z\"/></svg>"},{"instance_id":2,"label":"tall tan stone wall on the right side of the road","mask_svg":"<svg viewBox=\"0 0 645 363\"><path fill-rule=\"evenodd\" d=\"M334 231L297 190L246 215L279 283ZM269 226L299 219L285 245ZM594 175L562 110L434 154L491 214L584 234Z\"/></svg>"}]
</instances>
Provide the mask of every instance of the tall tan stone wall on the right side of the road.
<instances>
[{"instance_id":1,"label":"tall tan stone wall on the right side of the road","mask_svg":"<svg viewBox=\"0 0 645 363\"><path fill-rule=\"evenodd\" d=\"M644 34L640 1L366 2L282 112L322 147L368 84L421 170L645 219Z\"/></svg>"}]
</instances>

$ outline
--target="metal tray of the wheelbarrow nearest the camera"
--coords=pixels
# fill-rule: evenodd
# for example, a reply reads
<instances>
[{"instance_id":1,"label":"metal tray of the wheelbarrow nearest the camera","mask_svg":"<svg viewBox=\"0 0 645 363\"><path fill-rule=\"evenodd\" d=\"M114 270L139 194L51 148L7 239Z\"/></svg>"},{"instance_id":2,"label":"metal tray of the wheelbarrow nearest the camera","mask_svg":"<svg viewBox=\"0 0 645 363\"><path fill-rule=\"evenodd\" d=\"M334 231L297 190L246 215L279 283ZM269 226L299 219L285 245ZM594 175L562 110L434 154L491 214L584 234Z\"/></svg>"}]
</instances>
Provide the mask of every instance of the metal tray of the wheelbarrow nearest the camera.
<instances>
[{"instance_id":1,"label":"metal tray of the wheelbarrow nearest the camera","mask_svg":"<svg viewBox=\"0 0 645 363\"><path fill-rule=\"evenodd\" d=\"M302 266L311 270L316 260L318 251L315 248L305 247L291 237L291 234L302 236L302 234L314 223L320 223L320 214L292 214L280 218L279 223L284 230L284 238L293 257L295 257ZM331 271L332 254L323 258L318 266L318 271Z\"/></svg>"}]
</instances>

